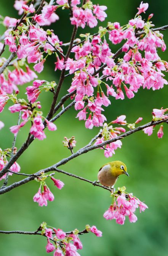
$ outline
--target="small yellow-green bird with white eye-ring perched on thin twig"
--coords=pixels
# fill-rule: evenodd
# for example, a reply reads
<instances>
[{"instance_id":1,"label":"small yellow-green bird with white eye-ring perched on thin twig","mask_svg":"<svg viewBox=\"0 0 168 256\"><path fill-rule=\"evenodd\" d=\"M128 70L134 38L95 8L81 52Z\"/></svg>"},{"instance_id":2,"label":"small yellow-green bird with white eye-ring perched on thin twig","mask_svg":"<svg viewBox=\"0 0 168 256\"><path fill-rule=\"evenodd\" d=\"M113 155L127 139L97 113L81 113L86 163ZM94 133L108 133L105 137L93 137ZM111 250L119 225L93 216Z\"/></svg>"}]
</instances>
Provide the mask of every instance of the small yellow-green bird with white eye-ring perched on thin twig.
<instances>
[{"instance_id":1,"label":"small yellow-green bird with white eye-ring perched on thin twig","mask_svg":"<svg viewBox=\"0 0 168 256\"><path fill-rule=\"evenodd\" d=\"M126 174L129 177L125 163L121 161L106 163L101 166L98 172L98 181L94 181L93 185L101 183L103 186L114 188L114 185L121 174Z\"/></svg>"}]
</instances>

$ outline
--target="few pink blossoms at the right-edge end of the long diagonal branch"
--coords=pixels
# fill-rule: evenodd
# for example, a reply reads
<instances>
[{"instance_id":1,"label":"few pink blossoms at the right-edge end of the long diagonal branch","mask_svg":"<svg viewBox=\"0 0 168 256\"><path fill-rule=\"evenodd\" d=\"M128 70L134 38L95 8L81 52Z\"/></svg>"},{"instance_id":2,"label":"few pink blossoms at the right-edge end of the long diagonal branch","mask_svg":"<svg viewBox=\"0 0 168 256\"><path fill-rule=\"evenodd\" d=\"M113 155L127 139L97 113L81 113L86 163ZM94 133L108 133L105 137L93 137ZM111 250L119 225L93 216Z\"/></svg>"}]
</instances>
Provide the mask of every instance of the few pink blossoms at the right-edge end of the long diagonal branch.
<instances>
[{"instance_id":1,"label":"few pink blossoms at the right-edge end of the long diagonal branch","mask_svg":"<svg viewBox=\"0 0 168 256\"><path fill-rule=\"evenodd\" d=\"M168 114L165 114L165 112L168 111L168 108L166 109L153 109L152 115L153 115L153 121L159 121L159 120L164 120L168 119ZM153 130L155 126L149 126L143 129L144 133L147 134L148 136L152 135ZM160 126L158 132L157 132L157 137L160 139L163 137L163 125Z\"/></svg>"}]
</instances>

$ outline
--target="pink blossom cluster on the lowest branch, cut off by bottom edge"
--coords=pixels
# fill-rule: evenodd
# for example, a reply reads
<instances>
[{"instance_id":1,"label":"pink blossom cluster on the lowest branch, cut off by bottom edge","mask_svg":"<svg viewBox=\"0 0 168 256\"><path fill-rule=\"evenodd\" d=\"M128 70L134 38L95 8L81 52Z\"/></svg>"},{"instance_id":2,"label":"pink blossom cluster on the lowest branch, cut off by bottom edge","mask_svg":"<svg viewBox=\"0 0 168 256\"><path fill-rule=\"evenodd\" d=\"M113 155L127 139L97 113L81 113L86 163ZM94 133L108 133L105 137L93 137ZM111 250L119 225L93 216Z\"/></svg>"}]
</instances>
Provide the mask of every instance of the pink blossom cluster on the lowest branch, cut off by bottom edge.
<instances>
[{"instance_id":1,"label":"pink blossom cluster on the lowest branch, cut off by bottom edge","mask_svg":"<svg viewBox=\"0 0 168 256\"><path fill-rule=\"evenodd\" d=\"M77 252L78 249L83 248L82 242L79 239L80 234L92 232L96 236L102 236L102 232L96 226L90 227L90 225L86 225L86 229L83 232L75 229L72 232L66 233L62 229L47 226L43 222L39 230L42 230L42 235L47 238L46 252L54 252L54 256L80 256Z\"/></svg>"}]
</instances>

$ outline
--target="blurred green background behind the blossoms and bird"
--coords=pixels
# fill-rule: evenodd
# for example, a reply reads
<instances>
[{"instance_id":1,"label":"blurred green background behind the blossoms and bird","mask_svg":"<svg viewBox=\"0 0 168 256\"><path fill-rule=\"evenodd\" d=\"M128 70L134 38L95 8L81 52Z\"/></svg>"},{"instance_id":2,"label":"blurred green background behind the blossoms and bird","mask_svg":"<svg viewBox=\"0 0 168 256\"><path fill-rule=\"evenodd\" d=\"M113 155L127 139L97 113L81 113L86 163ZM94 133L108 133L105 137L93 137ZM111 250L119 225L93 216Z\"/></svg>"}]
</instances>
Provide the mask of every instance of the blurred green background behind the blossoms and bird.
<instances>
[{"instance_id":1,"label":"blurred green background behind the blossoms and bird","mask_svg":"<svg viewBox=\"0 0 168 256\"><path fill-rule=\"evenodd\" d=\"M0 1L0 12L3 16L16 17L17 12L13 9L12 0ZM108 18L106 22L99 23L106 26L107 21L119 21L126 24L134 17L136 8L140 1L128 0L99 0L99 5L107 5ZM146 1L145 1L146 2ZM154 13L153 23L156 27L166 25L168 1L149 0L149 9L146 16ZM72 28L68 17L68 11L58 11L60 20L51 25L55 34L63 42L68 42ZM85 28L85 33L97 30ZM3 28L1 26L1 34ZM78 36L83 33L78 30ZM164 32L165 43L168 44L168 31ZM112 52L118 46L110 44ZM168 60L168 51L164 53L159 50L161 59ZM8 56L8 52L6 53ZM44 71L39 75L40 79L58 82L59 72L54 72L54 57L50 57L45 63ZM67 78L62 86L63 95L70 86L70 78ZM24 95L25 85L20 87ZM48 112L51 102L50 93L40 95L44 115ZM121 114L126 114L128 122L135 121L142 116L143 123L151 120L153 108L166 108L167 86L162 90L142 90L138 91L133 99L124 101L112 99L112 104L105 109L107 120L111 121ZM5 122L5 128L0 131L0 147L11 147L13 134L9 127L17 122L17 114L11 114L7 110L1 114L0 120ZM67 114L61 116L56 122L58 130L56 132L45 131L47 139L43 141L35 140L30 147L19 158L21 171L24 173L35 173L36 171L50 166L69 155L69 151L62 146L64 136L75 136L77 146L75 150L83 147L90 139L97 134L98 128L93 130L85 129L83 121L78 121L75 116L77 112L72 108ZM55 200L49 202L47 207L38 207L32 197L38 190L39 184L35 181L20 186L6 194L0 196L0 230L25 230L35 231L40 223L47 222L48 225L62 228L65 231L78 228L82 230L86 224L96 225L103 232L102 238L97 238L94 234L87 234L80 237L83 243L82 256L106 255L106 256L167 256L168 255L168 196L167 196L167 127L164 125L165 135L158 140L157 130L150 137L143 132L138 132L125 138L121 149L116 150L115 155L106 159L103 150L94 150L86 155L82 155L70 161L62 169L70 173L77 174L94 181L101 165L112 160L121 160L128 167L127 176L121 176L117 181L117 186L126 186L128 192L133 192L141 201L145 201L149 209L136 215L138 221L130 223L125 221L125 225L120 226L115 220L107 221L102 215L109 207L111 199L109 192L98 187L93 187L89 183L82 182L63 174L57 174L56 178L61 179L65 186L59 191L48 181ZM16 146L19 148L26 139L29 125L19 132ZM18 178L12 176L10 183ZM1 182L2 183L2 182ZM46 238L40 236L26 235L2 235L0 234L0 255L2 256L45 256ZM53 255L52 253L50 253Z\"/></svg>"}]
</instances>

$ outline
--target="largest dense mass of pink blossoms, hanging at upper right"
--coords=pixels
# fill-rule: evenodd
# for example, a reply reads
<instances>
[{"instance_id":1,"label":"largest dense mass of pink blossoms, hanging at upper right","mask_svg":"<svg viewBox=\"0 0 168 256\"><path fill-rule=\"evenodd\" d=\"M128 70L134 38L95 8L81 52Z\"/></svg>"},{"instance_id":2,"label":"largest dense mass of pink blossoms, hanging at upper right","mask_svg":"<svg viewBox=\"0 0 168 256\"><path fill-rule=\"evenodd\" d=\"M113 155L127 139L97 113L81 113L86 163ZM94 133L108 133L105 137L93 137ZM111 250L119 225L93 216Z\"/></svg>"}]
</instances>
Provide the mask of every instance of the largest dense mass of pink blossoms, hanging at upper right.
<instances>
[{"instance_id":1,"label":"largest dense mass of pink blossoms, hanging at upper right","mask_svg":"<svg viewBox=\"0 0 168 256\"><path fill-rule=\"evenodd\" d=\"M106 121L102 106L111 104L109 96L124 99L126 95L131 99L140 87L158 90L168 84L162 73L168 70L168 63L160 60L157 54L157 47L165 51L163 35L151 30L154 25L149 18L144 22L139 16L148 4L141 3L140 6L135 18L127 25L109 23L107 28L100 27L96 36L82 34L86 38L85 42L72 48L75 60L67 60L66 70L70 74L75 73L75 76L68 91L77 91L75 109L80 110L77 114L79 120L86 120L86 128L102 126ZM137 32L139 29L143 29L140 37ZM126 40L122 48L125 52L123 59L114 62L114 54L105 39L106 34L109 34L113 44ZM112 85L107 84L107 81L112 82Z\"/></svg>"}]
</instances>

